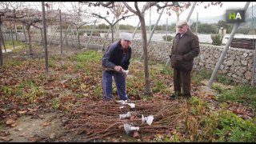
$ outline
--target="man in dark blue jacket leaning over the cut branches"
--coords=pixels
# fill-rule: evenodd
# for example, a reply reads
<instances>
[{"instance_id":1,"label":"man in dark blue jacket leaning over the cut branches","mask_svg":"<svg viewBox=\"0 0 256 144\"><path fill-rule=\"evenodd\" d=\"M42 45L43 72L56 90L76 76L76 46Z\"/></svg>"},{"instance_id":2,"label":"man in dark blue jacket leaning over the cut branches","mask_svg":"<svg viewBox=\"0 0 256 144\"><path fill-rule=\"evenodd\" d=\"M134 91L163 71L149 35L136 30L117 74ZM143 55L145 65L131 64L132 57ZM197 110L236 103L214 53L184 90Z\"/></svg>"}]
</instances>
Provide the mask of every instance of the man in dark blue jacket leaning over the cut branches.
<instances>
[{"instance_id":1,"label":"man in dark blue jacket leaning over the cut branches","mask_svg":"<svg viewBox=\"0 0 256 144\"><path fill-rule=\"evenodd\" d=\"M117 86L118 96L121 100L128 100L126 94L126 77L123 70L128 70L131 56L132 35L123 33L118 42L110 44L102 58L102 84L104 100L113 100L112 76Z\"/></svg>"}]
</instances>

